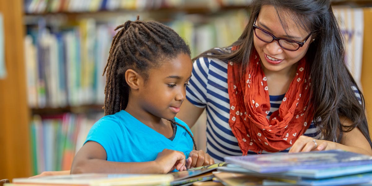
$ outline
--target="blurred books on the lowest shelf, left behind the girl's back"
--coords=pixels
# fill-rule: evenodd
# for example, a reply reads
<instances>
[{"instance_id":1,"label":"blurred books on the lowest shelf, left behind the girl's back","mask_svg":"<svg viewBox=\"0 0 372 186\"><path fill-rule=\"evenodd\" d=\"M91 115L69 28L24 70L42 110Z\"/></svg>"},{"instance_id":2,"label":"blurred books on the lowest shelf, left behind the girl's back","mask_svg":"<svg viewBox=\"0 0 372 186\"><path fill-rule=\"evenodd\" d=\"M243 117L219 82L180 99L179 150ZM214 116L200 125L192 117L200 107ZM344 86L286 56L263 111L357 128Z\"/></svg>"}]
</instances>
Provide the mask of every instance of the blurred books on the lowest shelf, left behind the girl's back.
<instances>
[{"instance_id":1,"label":"blurred books on the lowest shelf, left behind the girl's back","mask_svg":"<svg viewBox=\"0 0 372 186\"><path fill-rule=\"evenodd\" d=\"M70 170L93 124L103 113L34 115L30 125L33 175L43 171Z\"/></svg>"}]
</instances>

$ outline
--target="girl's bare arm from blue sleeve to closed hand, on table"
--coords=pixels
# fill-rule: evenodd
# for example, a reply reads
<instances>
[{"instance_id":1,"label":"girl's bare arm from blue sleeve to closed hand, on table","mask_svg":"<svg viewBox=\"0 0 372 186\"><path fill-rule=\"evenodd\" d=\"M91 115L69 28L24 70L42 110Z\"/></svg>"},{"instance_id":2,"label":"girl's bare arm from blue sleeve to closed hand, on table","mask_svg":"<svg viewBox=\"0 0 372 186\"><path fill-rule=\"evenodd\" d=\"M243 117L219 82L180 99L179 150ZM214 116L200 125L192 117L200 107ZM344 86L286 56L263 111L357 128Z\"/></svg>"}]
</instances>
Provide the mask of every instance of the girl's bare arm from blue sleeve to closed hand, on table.
<instances>
[{"instance_id":1,"label":"girl's bare arm from blue sleeve to closed hand, on table","mask_svg":"<svg viewBox=\"0 0 372 186\"><path fill-rule=\"evenodd\" d=\"M76 154L71 174L78 173L168 173L174 169L186 170L185 155L180 151L164 149L154 161L107 161L105 149L97 142L88 141Z\"/></svg>"}]
</instances>

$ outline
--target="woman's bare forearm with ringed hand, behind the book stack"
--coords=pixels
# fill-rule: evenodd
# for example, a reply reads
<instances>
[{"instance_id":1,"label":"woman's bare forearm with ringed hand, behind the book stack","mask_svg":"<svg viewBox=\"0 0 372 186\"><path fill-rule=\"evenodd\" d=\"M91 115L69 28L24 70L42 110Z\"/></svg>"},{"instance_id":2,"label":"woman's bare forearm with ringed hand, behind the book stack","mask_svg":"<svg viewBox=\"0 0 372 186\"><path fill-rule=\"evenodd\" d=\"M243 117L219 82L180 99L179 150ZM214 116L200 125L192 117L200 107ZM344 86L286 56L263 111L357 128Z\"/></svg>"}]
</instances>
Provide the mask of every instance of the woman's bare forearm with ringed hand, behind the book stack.
<instances>
[{"instance_id":1,"label":"woman's bare forearm with ringed hand, behind the book stack","mask_svg":"<svg viewBox=\"0 0 372 186\"><path fill-rule=\"evenodd\" d=\"M352 121L350 119L340 117L340 121L343 125L350 125ZM302 135L298 140L293 144L289 152L308 152L314 150L333 150L333 149L342 149L350 152L372 155L372 149L369 145L368 140L364 137L359 128L354 128L350 132L344 132L341 142L336 143L332 141L325 140L315 140L317 147L315 148L314 138L307 137Z\"/></svg>"}]
</instances>

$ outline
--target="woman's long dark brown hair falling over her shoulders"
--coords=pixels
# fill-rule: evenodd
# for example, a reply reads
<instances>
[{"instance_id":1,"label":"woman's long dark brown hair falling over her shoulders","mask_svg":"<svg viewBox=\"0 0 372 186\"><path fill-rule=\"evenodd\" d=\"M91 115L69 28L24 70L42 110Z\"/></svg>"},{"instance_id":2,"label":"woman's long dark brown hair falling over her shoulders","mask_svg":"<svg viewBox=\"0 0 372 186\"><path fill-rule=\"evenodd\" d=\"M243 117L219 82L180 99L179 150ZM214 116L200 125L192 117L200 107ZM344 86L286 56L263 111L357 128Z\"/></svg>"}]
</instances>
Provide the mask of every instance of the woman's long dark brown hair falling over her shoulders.
<instances>
[{"instance_id":1,"label":"woman's long dark brown hair falling over her shoulders","mask_svg":"<svg viewBox=\"0 0 372 186\"><path fill-rule=\"evenodd\" d=\"M287 15L298 23L300 28L311 32L311 38L315 39L305 57L311 67L310 102L314 106L314 122L321 129L321 138L340 142L343 132L350 132L358 127L372 147L364 97L347 70L344 42L330 0L253 0L248 7L251 15L246 28L238 40L230 45L240 47L232 52L210 49L193 60L213 57L240 63L244 69L247 68L248 59L254 49L252 25L263 5L272 5L279 19L282 15ZM287 32L288 26L284 20L280 19L280 23ZM355 96L353 86L360 93L361 103ZM342 125L340 116L350 119L352 125Z\"/></svg>"}]
</instances>

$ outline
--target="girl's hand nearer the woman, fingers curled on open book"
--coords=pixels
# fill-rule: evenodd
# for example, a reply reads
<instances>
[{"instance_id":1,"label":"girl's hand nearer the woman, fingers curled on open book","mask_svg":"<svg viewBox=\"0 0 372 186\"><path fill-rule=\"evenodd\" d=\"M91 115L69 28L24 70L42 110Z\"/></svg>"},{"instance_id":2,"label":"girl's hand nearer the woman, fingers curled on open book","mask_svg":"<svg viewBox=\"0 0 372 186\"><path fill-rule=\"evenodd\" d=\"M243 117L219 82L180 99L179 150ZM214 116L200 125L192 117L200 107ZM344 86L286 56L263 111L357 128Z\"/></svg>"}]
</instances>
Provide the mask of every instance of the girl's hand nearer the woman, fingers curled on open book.
<instances>
[{"instance_id":1,"label":"girl's hand nearer the woman, fingers curled on open book","mask_svg":"<svg viewBox=\"0 0 372 186\"><path fill-rule=\"evenodd\" d=\"M191 159L189 159L191 158ZM207 153L203 150L192 150L189 154L189 158L187 159L186 168L190 169L192 167L200 167L205 165L214 164L214 159L211 158ZM189 162L191 161L191 162Z\"/></svg>"}]
</instances>

